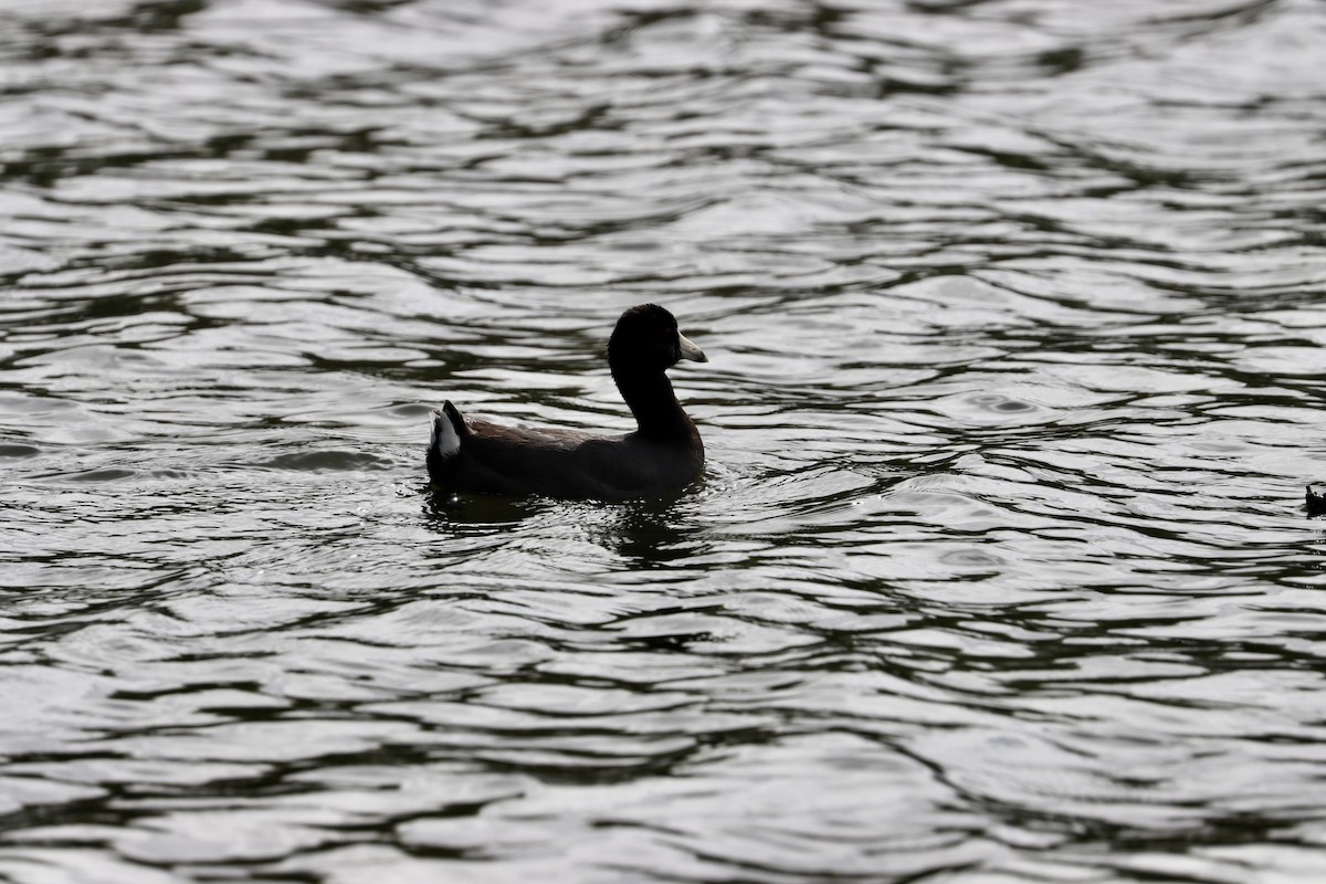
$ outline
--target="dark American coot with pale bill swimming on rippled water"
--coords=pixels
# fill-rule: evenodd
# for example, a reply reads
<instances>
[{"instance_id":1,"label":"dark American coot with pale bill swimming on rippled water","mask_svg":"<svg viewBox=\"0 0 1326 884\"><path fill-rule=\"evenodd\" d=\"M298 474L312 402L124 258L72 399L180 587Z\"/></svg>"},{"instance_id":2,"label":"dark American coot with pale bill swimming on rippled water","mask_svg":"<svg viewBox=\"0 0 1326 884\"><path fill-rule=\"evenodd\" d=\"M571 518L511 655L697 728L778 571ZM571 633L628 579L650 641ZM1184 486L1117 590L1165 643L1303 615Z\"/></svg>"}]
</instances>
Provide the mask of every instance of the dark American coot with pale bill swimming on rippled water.
<instances>
[{"instance_id":1,"label":"dark American coot with pale bill swimming on rippled water","mask_svg":"<svg viewBox=\"0 0 1326 884\"><path fill-rule=\"evenodd\" d=\"M674 492L700 474L704 444L682 411L664 370L708 362L654 304L622 314L607 342L613 380L636 431L597 436L522 429L464 417L450 402L432 416L428 478L443 492L545 494L606 501Z\"/></svg>"}]
</instances>

